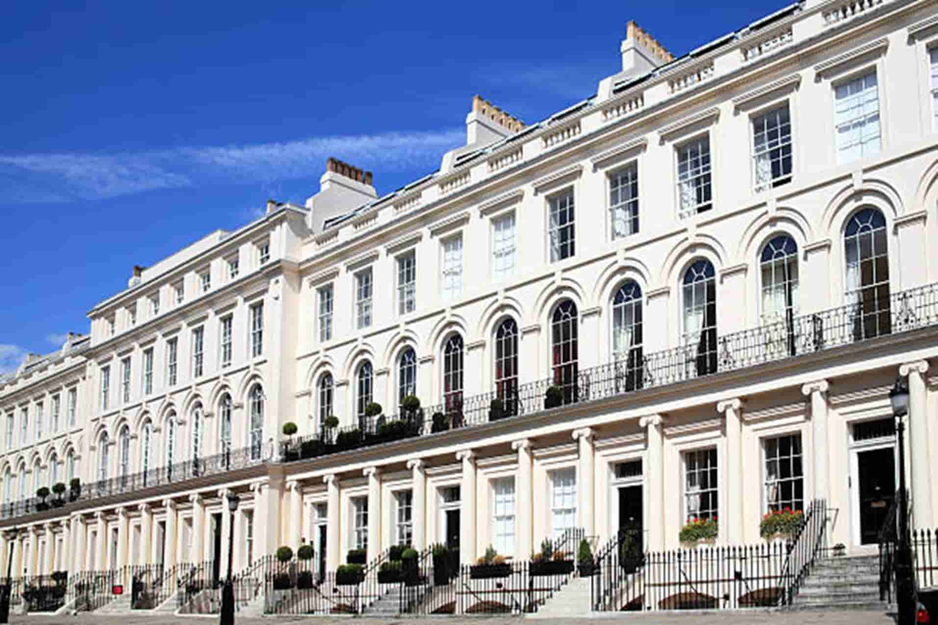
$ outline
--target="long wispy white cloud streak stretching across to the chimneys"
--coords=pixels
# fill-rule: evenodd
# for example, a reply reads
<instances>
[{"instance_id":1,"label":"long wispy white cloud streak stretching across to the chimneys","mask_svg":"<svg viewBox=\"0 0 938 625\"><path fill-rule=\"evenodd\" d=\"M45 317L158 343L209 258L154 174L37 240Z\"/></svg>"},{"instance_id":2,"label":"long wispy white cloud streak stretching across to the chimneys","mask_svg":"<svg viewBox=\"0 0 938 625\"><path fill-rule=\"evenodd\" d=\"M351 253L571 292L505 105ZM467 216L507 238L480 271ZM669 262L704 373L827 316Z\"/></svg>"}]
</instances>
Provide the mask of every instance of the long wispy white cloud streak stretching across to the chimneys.
<instances>
[{"instance_id":1,"label":"long wispy white cloud streak stretching across to the chimneys","mask_svg":"<svg viewBox=\"0 0 938 625\"><path fill-rule=\"evenodd\" d=\"M205 182L318 177L335 156L378 172L423 171L461 145L464 130L330 136L254 145L188 146L116 154L0 156L0 196L20 202L104 199Z\"/></svg>"}]
</instances>

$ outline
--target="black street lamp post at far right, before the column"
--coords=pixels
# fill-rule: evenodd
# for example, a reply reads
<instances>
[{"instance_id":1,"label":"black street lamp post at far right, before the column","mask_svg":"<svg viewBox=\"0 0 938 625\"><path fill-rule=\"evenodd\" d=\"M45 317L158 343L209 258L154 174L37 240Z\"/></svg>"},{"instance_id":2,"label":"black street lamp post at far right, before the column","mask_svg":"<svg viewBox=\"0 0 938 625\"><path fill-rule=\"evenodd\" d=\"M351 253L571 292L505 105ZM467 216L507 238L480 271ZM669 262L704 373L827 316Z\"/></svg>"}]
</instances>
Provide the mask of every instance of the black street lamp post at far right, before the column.
<instances>
[{"instance_id":1,"label":"black street lamp post at far right, before the column","mask_svg":"<svg viewBox=\"0 0 938 625\"><path fill-rule=\"evenodd\" d=\"M896 599L899 625L915 625L915 582L912 578L912 544L909 537L909 508L905 490L905 419L909 414L909 389L896 378L896 386L889 391L892 413L898 423L896 436L899 443L899 548L896 550Z\"/></svg>"}]
</instances>

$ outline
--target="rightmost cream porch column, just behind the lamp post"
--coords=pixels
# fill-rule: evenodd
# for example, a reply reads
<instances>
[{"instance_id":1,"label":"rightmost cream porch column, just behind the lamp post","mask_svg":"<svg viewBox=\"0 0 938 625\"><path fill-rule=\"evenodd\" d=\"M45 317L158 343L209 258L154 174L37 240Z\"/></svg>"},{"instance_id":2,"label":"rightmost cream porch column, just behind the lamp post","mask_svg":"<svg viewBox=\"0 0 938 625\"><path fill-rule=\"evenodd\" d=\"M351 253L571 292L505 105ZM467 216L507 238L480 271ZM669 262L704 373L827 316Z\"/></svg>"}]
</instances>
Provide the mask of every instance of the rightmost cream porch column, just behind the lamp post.
<instances>
[{"instance_id":1,"label":"rightmost cream porch column, just behind the lamp post","mask_svg":"<svg viewBox=\"0 0 938 625\"><path fill-rule=\"evenodd\" d=\"M931 526L931 477L929 472L929 410L925 389L925 373L929 363L925 360L907 362L899 368L902 377L909 378L909 416L906 419L908 450L911 458L912 513L917 527Z\"/></svg>"}]
</instances>

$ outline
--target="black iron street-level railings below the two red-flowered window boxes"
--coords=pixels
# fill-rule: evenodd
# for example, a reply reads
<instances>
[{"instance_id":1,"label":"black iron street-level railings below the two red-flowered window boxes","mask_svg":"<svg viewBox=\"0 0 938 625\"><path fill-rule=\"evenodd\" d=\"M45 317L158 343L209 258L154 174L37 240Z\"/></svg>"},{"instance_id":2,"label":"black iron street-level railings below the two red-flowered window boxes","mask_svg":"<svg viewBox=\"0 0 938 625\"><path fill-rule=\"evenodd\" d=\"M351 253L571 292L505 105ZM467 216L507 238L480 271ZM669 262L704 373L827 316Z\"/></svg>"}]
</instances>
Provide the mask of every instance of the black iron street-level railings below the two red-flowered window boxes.
<instances>
[{"instance_id":1,"label":"black iron street-level railings below the two red-flowered window boxes","mask_svg":"<svg viewBox=\"0 0 938 625\"><path fill-rule=\"evenodd\" d=\"M592 567L591 607L617 612L790 604L824 556L825 531L823 499L811 502L786 541L645 552L641 530L622 529Z\"/></svg>"}]
</instances>

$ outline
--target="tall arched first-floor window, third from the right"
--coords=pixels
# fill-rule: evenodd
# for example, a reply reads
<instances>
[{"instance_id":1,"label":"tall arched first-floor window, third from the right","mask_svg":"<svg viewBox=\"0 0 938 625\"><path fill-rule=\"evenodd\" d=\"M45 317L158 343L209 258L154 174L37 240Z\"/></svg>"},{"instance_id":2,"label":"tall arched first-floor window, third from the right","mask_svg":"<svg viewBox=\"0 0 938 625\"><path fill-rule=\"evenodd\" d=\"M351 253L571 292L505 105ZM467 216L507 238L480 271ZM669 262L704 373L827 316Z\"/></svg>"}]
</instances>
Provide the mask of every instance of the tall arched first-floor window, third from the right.
<instances>
[{"instance_id":1,"label":"tall arched first-floor window, third from the right","mask_svg":"<svg viewBox=\"0 0 938 625\"><path fill-rule=\"evenodd\" d=\"M689 374L717 372L717 281L710 261L698 260L684 273L684 344L693 350Z\"/></svg>"}]
</instances>

